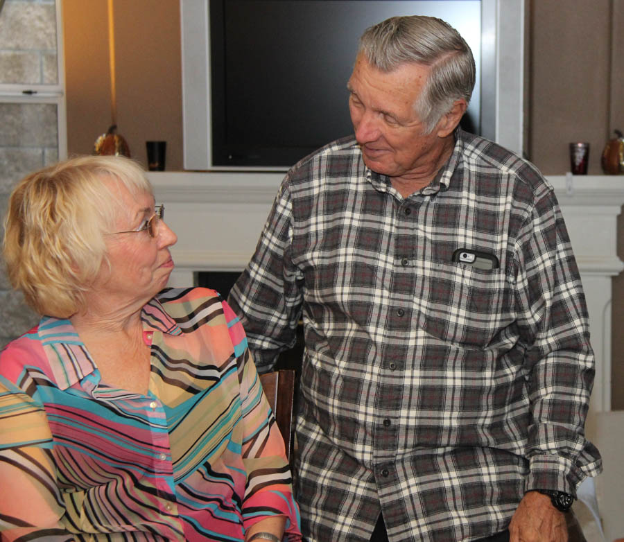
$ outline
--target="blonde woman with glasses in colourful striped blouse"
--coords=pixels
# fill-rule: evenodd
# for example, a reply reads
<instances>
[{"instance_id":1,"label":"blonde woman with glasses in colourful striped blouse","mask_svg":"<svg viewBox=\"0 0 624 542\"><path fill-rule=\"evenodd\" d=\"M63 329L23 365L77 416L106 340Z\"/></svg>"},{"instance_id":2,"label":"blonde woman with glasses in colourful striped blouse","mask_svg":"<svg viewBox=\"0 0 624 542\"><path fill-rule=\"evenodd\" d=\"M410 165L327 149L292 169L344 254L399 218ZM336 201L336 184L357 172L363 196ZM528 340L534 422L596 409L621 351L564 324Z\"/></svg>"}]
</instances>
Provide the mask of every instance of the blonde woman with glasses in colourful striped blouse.
<instances>
[{"instance_id":1,"label":"blonde woman with glasses in colourful striped blouse","mask_svg":"<svg viewBox=\"0 0 624 542\"><path fill-rule=\"evenodd\" d=\"M8 275L43 316L0 354L3 540L301 538L241 324L212 290L164 289L163 213L120 157L11 195Z\"/></svg>"}]
</instances>

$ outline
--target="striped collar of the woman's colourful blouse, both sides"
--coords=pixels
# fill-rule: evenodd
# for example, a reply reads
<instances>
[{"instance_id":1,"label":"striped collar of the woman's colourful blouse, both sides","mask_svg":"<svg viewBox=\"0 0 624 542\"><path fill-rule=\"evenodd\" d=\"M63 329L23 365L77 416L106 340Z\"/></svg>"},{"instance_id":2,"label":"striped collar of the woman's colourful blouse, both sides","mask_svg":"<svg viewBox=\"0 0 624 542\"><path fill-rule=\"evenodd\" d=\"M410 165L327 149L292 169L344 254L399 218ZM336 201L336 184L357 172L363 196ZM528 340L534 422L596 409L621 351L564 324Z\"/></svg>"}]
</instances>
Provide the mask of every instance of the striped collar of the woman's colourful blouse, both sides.
<instances>
[{"instance_id":1,"label":"striped collar of the woman's colourful blouse, both sides","mask_svg":"<svg viewBox=\"0 0 624 542\"><path fill-rule=\"evenodd\" d=\"M162 331L168 335L180 335L182 330L169 316L158 299L152 299L141 311L144 331ZM53 378L60 390L82 383L87 392L98 384L98 379L87 378L96 373L98 367L87 351L87 347L76 328L69 320L51 316L42 317L38 331Z\"/></svg>"}]
</instances>

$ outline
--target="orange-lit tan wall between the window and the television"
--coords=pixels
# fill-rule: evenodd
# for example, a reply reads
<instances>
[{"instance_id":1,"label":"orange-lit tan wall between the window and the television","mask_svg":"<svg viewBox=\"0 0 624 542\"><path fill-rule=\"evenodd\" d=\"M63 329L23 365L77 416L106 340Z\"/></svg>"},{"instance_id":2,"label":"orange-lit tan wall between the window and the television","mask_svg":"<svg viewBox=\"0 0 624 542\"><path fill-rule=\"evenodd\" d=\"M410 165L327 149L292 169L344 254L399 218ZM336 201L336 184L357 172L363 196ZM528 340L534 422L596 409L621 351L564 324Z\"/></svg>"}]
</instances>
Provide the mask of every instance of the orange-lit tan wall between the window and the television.
<instances>
[{"instance_id":1,"label":"orange-lit tan wall between the window and the television","mask_svg":"<svg viewBox=\"0 0 624 542\"><path fill-rule=\"evenodd\" d=\"M69 154L90 154L112 123L105 0L62 0ZM177 0L114 0L116 123L133 158L167 142L166 169L182 169L182 72Z\"/></svg>"}]
</instances>

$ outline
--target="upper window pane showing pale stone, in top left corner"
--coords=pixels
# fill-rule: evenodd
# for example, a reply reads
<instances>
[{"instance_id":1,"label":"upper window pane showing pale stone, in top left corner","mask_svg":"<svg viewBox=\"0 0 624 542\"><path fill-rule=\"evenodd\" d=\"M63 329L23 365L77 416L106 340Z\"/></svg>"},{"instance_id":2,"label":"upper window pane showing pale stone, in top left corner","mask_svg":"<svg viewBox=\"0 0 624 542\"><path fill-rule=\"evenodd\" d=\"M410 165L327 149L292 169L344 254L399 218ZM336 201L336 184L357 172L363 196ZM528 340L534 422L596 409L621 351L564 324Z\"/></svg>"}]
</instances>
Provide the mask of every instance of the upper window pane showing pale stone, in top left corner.
<instances>
[{"instance_id":1,"label":"upper window pane showing pale stone, in top left corner","mask_svg":"<svg viewBox=\"0 0 624 542\"><path fill-rule=\"evenodd\" d=\"M54 0L6 0L0 15L0 84L57 85Z\"/></svg>"}]
</instances>

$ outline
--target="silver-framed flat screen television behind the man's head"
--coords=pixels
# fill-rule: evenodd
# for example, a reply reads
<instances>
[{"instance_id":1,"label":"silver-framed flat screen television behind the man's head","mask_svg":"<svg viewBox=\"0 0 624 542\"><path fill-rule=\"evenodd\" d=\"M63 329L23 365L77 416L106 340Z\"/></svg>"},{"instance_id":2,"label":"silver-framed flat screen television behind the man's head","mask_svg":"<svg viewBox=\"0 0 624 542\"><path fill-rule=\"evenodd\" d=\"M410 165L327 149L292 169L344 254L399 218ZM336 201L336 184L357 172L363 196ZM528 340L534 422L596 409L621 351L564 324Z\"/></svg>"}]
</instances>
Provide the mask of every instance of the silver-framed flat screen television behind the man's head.
<instances>
[{"instance_id":1,"label":"silver-framed flat screen television behind the man's head","mask_svg":"<svg viewBox=\"0 0 624 542\"><path fill-rule=\"evenodd\" d=\"M496 0L182 0L184 168L284 170L352 134L358 38L394 15L440 17L465 38L477 82L462 123L496 139L500 11ZM521 33L521 20L507 24ZM521 67L521 40L514 56Z\"/></svg>"}]
</instances>

